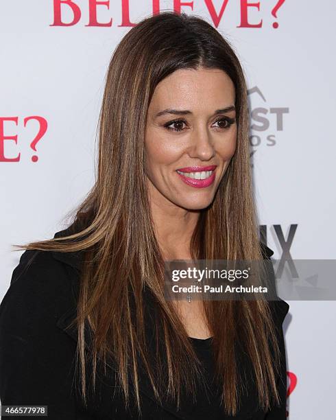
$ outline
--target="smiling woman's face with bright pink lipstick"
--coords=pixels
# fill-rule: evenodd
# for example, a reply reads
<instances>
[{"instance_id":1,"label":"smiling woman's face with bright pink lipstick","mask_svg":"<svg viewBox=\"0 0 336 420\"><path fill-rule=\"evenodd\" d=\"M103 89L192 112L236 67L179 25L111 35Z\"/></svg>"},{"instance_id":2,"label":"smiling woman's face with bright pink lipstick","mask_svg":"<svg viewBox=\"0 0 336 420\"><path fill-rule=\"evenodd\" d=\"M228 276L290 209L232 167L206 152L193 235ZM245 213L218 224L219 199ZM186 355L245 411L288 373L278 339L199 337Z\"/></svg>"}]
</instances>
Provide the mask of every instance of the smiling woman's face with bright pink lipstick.
<instances>
[{"instance_id":1,"label":"smiling woman's face with bright pink lipstick","mask_svg":"<svg viewBox=\"0 0 336 420\"><path fill-rule=\"evenodd\" d=\"M145 131L149 194L156 204L208 207L235 153L235 86L219 69L180 69L162 80Z\"/></svg>"}]
</instances>

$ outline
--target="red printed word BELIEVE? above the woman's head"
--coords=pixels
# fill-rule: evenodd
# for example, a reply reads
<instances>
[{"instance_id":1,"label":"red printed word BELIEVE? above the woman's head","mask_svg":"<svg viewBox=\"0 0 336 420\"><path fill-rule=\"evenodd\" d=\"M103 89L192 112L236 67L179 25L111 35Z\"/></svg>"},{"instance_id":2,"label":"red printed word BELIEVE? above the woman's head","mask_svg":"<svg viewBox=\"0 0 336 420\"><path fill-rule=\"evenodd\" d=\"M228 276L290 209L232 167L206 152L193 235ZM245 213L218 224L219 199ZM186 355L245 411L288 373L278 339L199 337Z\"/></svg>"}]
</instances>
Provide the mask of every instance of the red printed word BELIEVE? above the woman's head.
<instances>
[{"instance_id":1,"label":"red printed word BELIEVE? above the woman's head","mask_svg":"<svg viewBox=\"0 0 336 420\"><path fill-rule=\"evenodd\" d=\"M215 4L214 4L215 3ZM225 22L228 14L239 16L237 27L261 28L265 25L272 25L274 29L279 26L278 13L285 0L171 0L163 2L160 0L143 0L143 10L152 7L152 14L158 14L161 10L174 10L176 13L192 13L198 8L204 8L208 13L209 21L215 27ZM50 26L73 26L82 24L91 27L132 27L132 7L130 0L121 0L121 11L118 16L113 10L113 2L109 0L53 0L53 23ZM237 13L237 8L238 13ZM280 13L281 14L281 13ZM83 17L87 16L87 17ZM117 20L117 22L116 22ZM265 23L265 21L267 23ZM270 22L270 23L268 23Z\"/></svg>"}]
</instances>

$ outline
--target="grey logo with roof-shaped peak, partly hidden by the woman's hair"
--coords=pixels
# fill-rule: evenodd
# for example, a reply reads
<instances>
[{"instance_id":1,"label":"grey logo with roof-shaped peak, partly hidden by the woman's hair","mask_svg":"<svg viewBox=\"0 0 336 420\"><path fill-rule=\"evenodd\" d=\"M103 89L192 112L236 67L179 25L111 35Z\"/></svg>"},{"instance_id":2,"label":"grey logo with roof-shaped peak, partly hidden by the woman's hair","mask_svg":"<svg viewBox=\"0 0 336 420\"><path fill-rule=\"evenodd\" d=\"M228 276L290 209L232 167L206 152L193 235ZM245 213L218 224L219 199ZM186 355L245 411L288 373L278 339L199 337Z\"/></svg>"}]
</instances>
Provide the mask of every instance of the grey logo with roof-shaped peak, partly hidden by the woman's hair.
<instances>
[{"instance_id":1,"label":"grey logo with roof-shaped peak, partly hidden by the woman's hair","mask_svg":"<svg viewBox=\"0 0 336 420\"><path fill-rule=\"evenodd\" d=\"M248 89L250 102L250 157L259 147L274 147L278 141L278 133L285 129L286 115L289 114L288 106L273 106L267 103L265 95L254 86ZM253 162L251 161L251 166Z\"/></svg>"}]
</instances>

